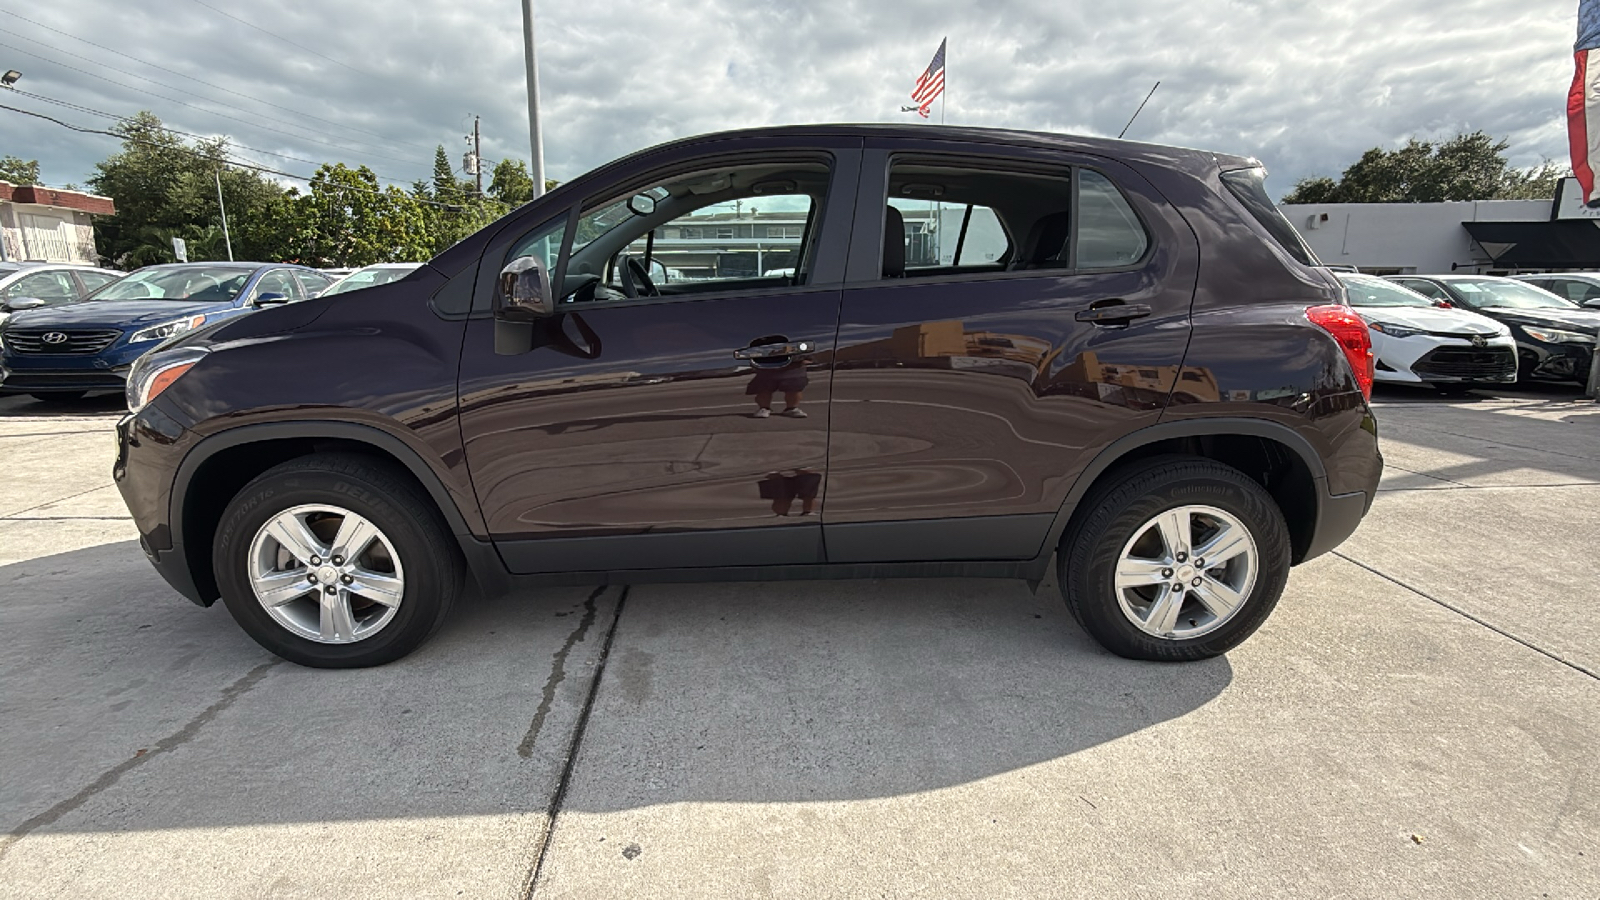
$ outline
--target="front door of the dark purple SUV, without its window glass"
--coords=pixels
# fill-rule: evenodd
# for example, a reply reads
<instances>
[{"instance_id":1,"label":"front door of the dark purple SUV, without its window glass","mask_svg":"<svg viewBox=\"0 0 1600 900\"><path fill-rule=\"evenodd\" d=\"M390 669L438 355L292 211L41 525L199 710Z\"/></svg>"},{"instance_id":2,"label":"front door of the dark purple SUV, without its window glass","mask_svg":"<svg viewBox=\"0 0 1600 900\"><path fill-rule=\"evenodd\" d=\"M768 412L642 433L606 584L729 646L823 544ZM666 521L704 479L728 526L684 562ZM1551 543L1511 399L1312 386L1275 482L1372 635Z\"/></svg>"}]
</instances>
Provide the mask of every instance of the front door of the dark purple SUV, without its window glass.
<instances>
[{"instance_id":1,"label":"front door of the dark purple SUV, without its window glass","mask_svg":"<svg viewBox=\"0 0 1600 900\"><path fill-rule=\"evenodd\" d=\"M821 560L859 151L832 155L810 283L562 304L520 356L496 356L488 317L467 323L462 440L512 572ZM782 415L786 392L803 416ZM776 402L757 418L763 394Z\"/></svg>"}]
</instances>

